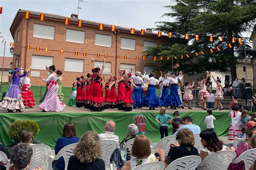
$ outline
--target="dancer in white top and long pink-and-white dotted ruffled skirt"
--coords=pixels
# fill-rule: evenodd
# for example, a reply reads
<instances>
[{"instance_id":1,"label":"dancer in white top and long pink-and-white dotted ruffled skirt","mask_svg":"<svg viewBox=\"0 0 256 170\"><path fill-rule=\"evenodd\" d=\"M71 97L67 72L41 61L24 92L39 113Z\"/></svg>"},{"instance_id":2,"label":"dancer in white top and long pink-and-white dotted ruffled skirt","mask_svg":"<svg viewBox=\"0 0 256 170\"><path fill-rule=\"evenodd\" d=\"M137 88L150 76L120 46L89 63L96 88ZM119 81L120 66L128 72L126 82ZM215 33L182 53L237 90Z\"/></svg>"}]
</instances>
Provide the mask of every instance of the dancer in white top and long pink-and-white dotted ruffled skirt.
<instances>
[{"instance_id":1,"label":"dancer in white top and long pink-and-white dotted ruffled skirt","mask_svg":"<svg viewBox=\"0 0 256 170\"><path fill-rule=\"evenodd\" d=\"M39 105L39 107L42 109L42 112L60 112L66 107L66 105L62 101L60 101L58 97L59 86L57 83L57 74L55 73L55 66L52 65L49 68L46 66L45 68L48 70L48 72L50 72L50 75L47 79L43 79L43 77L40 78L44 82L49 83L49 86L44 101Z\"/></svg>"}]
</instances>

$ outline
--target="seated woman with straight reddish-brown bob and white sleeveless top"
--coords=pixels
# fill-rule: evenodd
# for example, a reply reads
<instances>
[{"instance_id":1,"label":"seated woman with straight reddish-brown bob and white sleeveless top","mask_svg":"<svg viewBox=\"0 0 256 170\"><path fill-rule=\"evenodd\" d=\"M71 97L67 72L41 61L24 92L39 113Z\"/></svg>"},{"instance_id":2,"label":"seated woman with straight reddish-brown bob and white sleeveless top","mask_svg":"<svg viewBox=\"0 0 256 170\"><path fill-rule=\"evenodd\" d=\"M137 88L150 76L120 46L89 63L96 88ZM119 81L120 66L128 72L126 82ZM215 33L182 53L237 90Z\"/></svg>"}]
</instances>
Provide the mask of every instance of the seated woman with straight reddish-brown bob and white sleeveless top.
<instances>
[{"instance_id":1,"label":"seated woman with straight reddish-brown bob and white sleeveless top","mask_svg":"<svg viewBox=\"0 0 256 170\"><path fill-rule=\"evenodd\" d=\"M132 145L131 160L125 162L122 170L130 170L139 165L155 161L156 157L150 149L150 140L145 135L140 134L135 138Z\"/></svg>"}]
</instances>

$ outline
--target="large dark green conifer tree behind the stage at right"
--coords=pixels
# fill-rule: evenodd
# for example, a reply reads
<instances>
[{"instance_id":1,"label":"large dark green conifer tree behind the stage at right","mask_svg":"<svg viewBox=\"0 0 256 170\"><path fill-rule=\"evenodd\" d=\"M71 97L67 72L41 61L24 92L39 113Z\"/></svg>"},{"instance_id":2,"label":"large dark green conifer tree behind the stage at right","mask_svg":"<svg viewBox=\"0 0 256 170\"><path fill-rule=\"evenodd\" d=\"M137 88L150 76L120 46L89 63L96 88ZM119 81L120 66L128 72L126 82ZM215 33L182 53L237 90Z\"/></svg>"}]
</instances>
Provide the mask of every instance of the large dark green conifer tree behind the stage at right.
<instances>
[{"instance_id":1,"label":"large dark green conifer tree behind the stage at right","mask_svg":"<svg viewBox=\"0 0 256 170\"><path fill-rule=\"evenodd\" d=\"M228 48L232 37L241 37L243 32L252 30L256 18L256 5L253 1L199 1L177 0L175 5L165 6L171 10L164 16L172 17L174 22L158 22L156 30L164 33L174 32L173 38L166 38L166 43L152 47L146 52L149 56L179 56L174 63L179 63L179 70L184 73L203 73L206 70L225 72L231 69L232 81L237 77L236 63L244 59L244 45L238 41ZM190 39L185 40L184 34L189 34ZM199 34L199 41L194 40L194 35ZM223 41L214 39L209 41L209 36L223 38ZM242 39L248 41L248 39ZM248 44L248 42L246 42ZM220 47L221 51L210 53L210 48ZM203 51L204 55L191 55ZM253 55L250 46L246 46L249 55ZM186 57L190 54L190 58ZM184 59L180 56L184 55ZM149 65L160 70L171 67L171 60L149 61ZM166 66L169 67L166 67Z\"/></svg>"}]
</instances>

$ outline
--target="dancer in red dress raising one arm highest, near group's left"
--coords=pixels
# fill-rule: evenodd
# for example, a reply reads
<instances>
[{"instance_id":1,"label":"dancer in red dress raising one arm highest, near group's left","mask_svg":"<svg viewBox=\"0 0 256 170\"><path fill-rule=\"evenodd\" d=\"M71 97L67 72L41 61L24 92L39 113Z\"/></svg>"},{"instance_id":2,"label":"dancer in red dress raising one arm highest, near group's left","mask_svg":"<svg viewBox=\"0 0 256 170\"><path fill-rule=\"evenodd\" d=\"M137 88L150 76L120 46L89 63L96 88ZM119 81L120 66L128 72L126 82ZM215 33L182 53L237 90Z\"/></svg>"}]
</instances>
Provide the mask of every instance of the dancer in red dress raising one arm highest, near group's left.
<instances>
[{"instance_id":1,"label":"dancer in red dress raising one arm highest, near group's left","mask_svg":"<svg viewBox=\"0 0 256 170\"><path fill-rule=\"evenodd\" d=\"M103 60L102 69L96 67L93 69L92 81L94 82L92 85L92 101L91 101L91 111L103 111L105 110L105 100L103 97L103 88L100 87L102 80L100 79L100 75L103 73L105 68L105 59Z\"/></svg>"}]
</instances>

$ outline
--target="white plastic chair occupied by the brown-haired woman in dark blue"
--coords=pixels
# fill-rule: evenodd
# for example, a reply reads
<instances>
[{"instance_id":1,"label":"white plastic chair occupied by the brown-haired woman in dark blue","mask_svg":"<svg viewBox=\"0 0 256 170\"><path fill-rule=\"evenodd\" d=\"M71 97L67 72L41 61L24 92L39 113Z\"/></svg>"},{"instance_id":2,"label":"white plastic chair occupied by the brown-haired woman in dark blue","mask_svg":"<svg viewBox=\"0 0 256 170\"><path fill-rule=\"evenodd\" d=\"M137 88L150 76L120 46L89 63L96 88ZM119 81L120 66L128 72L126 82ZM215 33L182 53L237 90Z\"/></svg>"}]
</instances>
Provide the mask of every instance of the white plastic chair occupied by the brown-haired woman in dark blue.
<instances>
[{"instance_id":1,"label":"white plastic chair occupied by the brown-haired woman in dark blue","mask_svg":"<svg viewBox=\"0 0 256 170\"><path fill-rule=\"evenodd\" d=\"M63 157L65 161L65 170L68 169L69 158L73 155L73 150L75 149L76 146L77 146L77 143L67 145L59 151L56 157L53 157L52 155L50 155L48 169L52 170L53 160L58 160L61 157Z\"/></svg>"}]
</instances>

